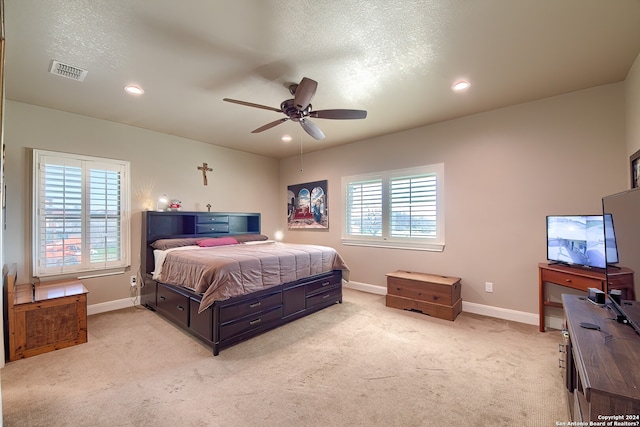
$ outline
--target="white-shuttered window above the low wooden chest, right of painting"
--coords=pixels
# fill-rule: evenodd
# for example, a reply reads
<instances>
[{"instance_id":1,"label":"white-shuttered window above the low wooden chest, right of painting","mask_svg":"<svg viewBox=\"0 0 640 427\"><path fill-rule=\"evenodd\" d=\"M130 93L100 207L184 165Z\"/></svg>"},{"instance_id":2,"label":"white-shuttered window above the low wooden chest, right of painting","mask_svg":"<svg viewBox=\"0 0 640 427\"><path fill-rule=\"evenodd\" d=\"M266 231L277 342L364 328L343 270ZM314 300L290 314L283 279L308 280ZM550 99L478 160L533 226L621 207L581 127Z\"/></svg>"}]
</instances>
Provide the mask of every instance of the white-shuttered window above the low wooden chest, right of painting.
<instances>
[{"instance_id":1,"label":"white-shuttered window above the low wooden chest, right of painting","mask_svg":"<svg viewBox=\"0 0 640 427\"><path fill-rule=\"evenodd\" d=\"M346 245L442 251L444 165L344 177Z\"/></svg>"}]
</instances>

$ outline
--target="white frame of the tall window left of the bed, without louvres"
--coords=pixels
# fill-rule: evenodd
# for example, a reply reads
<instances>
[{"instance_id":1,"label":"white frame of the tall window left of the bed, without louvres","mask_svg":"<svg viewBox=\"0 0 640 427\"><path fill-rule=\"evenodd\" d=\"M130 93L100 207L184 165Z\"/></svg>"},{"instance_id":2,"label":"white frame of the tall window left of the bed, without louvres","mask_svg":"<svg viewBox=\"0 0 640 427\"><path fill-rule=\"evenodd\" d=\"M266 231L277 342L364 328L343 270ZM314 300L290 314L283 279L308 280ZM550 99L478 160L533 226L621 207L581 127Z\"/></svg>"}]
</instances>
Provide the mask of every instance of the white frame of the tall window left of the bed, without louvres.
<instances>
[{"instance_id":1,"label":"white frame of the tall window left of the bed, without louvres","mask_svg":"<svg viewBox=\"0 0 640 427\"><path fill-rule=\"evenodd\" d=\"M44 229L46 229L44 221L44 195L43 180L44 178L44 165L67 165L76 164L80 167L80 191L81 203L79 211L79 223L80 231L80 262L75 265L60 265L60 266L46 266L42 261L47 254L47 240L45 239ZM115 215L116 223L119 228L119 246L116 246L119 251L119 257L115 259L109 259L105 252L105 257L102 260L94 261L91 255L90 246L90 226L92 218L95 221L95 215L92 217L90 211L90 202L95 203L95 193L91 193L92 179L89 174L91 170L90 166L94 166L93 171L109 171L119 174L119 215ZM94 178L95 179L95 178ZM97 182L98 179L93 181ZM77 181L76 181L77 184ZM106 185L106 184L105 184ZM62 275L79 275L82 273L82 277L96 277L107 274L119 274L123 273L127 267L131 266L131 202L130 202L130 162L126 160L108 159L102 157L85 156L79 154L61 153L47 150L33 150L33 182L32 182L32 273L33 277L49 277L49 276L62 276ZM109 198L105 195L105 202ZM91 195L91 197L89 197ZM43 197L41 197L43 196ZM98 199L99 201L100 199ZM66 214L66 211L64 212ZM104 214L105 227L108 227L108 217L111 216L107 213ZM42 233L41 233L42 232ZM75 237L73 239L76 239ZM65 246L74 246L77 243L65 243L63 241L63 257Z\"/></svg>"}]
</instances>

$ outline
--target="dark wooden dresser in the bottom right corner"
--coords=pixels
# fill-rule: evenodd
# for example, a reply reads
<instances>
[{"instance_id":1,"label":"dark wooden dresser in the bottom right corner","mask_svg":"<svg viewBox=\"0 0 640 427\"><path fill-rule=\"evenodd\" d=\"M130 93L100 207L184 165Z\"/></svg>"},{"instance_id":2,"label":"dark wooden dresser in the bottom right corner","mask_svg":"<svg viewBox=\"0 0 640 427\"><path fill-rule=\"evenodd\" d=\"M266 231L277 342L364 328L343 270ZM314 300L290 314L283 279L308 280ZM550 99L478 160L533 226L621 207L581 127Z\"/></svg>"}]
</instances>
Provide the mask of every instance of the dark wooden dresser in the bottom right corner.
<instances>
[{"instance_id":1,"label":"dark wooden dresser in the bottom right corner","mask_svg":"<svg viewBox=\"0 0 640 427\"><path fill-rule=\"evenodd\" d=\"M567 327L564 347L565 385L572 421L600 422L601 416L640 416L640 335L614 320L606 307L585 297L562 295ZM640 305L640 303L634 303ZM600 330L585 329L591 323ZM625 416L628 416L625 417Z\"/></svg>"}]
</instances>

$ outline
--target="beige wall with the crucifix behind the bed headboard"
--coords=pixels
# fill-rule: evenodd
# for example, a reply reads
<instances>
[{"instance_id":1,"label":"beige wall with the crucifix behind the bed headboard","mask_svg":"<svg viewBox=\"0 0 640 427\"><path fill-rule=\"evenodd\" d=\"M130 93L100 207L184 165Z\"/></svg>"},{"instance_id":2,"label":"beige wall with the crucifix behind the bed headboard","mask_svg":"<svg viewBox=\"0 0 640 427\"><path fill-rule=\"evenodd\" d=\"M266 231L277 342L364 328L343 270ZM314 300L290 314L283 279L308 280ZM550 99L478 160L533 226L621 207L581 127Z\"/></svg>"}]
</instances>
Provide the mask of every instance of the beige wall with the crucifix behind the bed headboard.
<instances>
[{"instance_id":1,"label":"beige wall with the crucifix behind the bed headboard","mask_svg":"<svg viewBox=\"0 0 640 427\"><path fill-rule=\"evenodd\" d=\"M273 234L282 212L277 203L278 162L274 159L92 119L29 104L8 101L7 230L5 262L18 264L18 282L31 272L31 149L124 159L131 162L132 268L120 276L87 279L88 304L129 297L129 275L140 264L141 211L162 193L183 202L183 210L261 212L262 230ZM207 162L213 172L204 186L197 169Z\"/></svg>"}]
</instances>

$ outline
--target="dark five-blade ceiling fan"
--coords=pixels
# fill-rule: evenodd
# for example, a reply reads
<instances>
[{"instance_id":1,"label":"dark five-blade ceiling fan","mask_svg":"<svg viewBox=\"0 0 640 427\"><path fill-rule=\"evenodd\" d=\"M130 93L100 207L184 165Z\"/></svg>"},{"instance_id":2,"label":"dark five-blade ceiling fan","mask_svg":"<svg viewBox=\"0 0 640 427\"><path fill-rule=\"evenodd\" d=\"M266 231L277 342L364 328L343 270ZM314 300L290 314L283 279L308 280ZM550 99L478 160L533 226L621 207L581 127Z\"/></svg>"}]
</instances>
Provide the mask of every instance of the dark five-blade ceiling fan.
<instances>
[{"instance_id":1,"label":"dark five-blade ceiling fan","mask_svg":"<svg viewBox=\"0 0 640 427\"><path fill-rule=\"evenodd\" d=\"M263 110L275 111L276 113L284 113L287 117L278 119L264 126L260 126L251 133L259 133L267 129L271 129L287 120L299 122L302 128L314 139L323 139L324 134L318 126L309 120L310 117L316 119L364 119L367 112L364 110L318 110L311 111L311 99L316 94L318 82L303 77L299 84L289 85L289 92L293 95L293 99L287 99L280 104L280 108L269 107L266 105L254 104L252 102L239 101L237 99L224 98L223 101L233 102L235 104L246 105L247 107L262 108Z\"/></svg>"}]
</instances>

